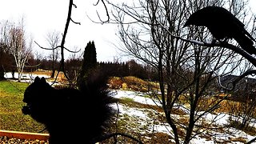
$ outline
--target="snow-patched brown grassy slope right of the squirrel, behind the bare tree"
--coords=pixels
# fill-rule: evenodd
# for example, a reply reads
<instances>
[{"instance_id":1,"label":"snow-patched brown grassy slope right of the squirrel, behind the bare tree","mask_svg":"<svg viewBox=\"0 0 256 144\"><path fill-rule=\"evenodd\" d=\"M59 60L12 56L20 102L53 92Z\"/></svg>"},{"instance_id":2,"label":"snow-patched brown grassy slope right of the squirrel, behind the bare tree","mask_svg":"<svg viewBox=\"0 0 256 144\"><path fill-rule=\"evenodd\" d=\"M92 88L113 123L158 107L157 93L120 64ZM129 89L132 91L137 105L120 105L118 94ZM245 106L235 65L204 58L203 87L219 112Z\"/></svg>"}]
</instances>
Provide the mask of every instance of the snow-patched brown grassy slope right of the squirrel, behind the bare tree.
<instances>
[{"instance_id":1,"label":"snow-patched brown grassy slope right of the squirrel, behind the bare tree","mask_svg":"<svg viewBox=\"0 0 256 144\"><path fill-rule=\"evenodd\" d=\"M134 77L114 77L110 79L109 85L111 95L118 100L112 105L117 113L109 133L128 134L144 143L174 143L173 132L169 124L166 123L160 102L151 98L147 91L149 87L157 90L158 84L156 82L146 82ZM226 109L219 109L214 114L205 114L200 119L199 122L207 126L207 129L202 130L201 134L192 138L191 144L244 143L254 138L256 134L255 121L250 122L251 130L238 130L230 127L230 123L232 123L230 118L234 116L227 113L228 108L224 104L226 101L222 103L222 107ZM198 113L204 113L204 111L198 111ZM186 125L189 114L188 105L175 104L175 110L171 115ZM214 123L211 123L213 119ZM185 133L180 131L180 134L184 135ZM114 139L110 138L103 143L113 143L113 141ZM118 136L118 142L134 143L133 140L124 136Z\"/></svg>"}]
</instances>

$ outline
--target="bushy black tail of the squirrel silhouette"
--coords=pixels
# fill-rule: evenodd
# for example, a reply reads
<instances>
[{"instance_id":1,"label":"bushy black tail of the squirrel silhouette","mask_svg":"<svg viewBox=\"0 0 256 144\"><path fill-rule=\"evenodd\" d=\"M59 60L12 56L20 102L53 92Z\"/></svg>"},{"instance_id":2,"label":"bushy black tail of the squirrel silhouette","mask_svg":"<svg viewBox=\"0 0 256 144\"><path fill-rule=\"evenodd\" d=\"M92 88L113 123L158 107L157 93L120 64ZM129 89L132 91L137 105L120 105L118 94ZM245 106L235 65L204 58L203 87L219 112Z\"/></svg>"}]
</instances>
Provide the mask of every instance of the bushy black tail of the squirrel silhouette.
<instances>
[{"instance_id":1,"label":"bushy black tail of the squirrel silhouette","mask_svg":"<svg viewBox=\"0 0 256 144\"><path fill-rule=\"evenodd\" d=\"M110 125L111 117L114 114L114 110L110 106L113 98L110 96L107 81L108 77L102 71L96 70L87 76L86 82L80 88L86 97L86 104L91 108L87 114L89 118L92 117L89 121L91 120L92 126L94 126L91 133L95 132L94 135L98 135L97 137L102 136L105 128Z\"/></svg>"}]
</instances>

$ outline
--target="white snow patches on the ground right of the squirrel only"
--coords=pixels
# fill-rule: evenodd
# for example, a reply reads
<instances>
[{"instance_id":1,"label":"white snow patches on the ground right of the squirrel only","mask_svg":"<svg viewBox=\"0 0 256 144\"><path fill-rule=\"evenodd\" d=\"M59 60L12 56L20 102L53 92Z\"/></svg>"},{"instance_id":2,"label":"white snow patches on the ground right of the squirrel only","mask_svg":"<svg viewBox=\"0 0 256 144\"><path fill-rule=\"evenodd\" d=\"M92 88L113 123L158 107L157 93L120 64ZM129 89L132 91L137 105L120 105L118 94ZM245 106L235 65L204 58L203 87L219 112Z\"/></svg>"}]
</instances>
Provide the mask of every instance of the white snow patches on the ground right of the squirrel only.
<instances>
[{"instance_id":1,"label":"white snow patches on the ground right of the squirrel only","mask_svg":"<svg viewBox=\"0 0 256 144\"><path fill-rule=\"evenodd\" d=\"M143 97L143 93L141 92L134 92L134 91L129 91L129 90L114 90L113 97L114 98L132 98L134 102L140 102L143 104L149 104L149 105L156 105L159 102L154 102L151 98L146 98ZM146 95L146 94L145 94ZM178 106L178 105L177 105ZM143 120L144 122L149 122L149 121L154 121L151 117L149 117L145 111L139 110L138 108L133 108L129 106L124 106L122 104L116 104L114 107L119 110L120 114L128 114L129 116L136 117L137 120ZM186 110L182 107L180 107L181 110ZM186 113L188 111L186 110ZM203 112L198 112L198 113L203 113ZM208 121L212 122L213 120L215 121L214 124L217 126L225 126L226 124L229 123L229 114L206 114L203 118ZM138 122L143 125L143 122ZM146 125L146 124L145 124ZM153 127L154 126L154 127ZM156 130L158 132L162 132L165 134L172 134L172 130L170 126L167 123L161 123L161 124L154 124L152 127L150 127L151 130ZM227 132L227 133L226 133ZM223 128L222 131L206 131L203 132L202 134L210 135L211 139L214 140L209 140L206 138L201 138L199 135L195 136L190 141L190 144L199 144L199 143L206 143L206 144L214 144L214 143L219 143L222 141L229 141L230 139L234 138L246 138L246 141L249 141L250 139L254 138L254 136L251 136L249 134L246 134L242 130L236 130L234 128ZM240 144L242 142L231 142L235 144Z\"/></svg>"}]
</instances>

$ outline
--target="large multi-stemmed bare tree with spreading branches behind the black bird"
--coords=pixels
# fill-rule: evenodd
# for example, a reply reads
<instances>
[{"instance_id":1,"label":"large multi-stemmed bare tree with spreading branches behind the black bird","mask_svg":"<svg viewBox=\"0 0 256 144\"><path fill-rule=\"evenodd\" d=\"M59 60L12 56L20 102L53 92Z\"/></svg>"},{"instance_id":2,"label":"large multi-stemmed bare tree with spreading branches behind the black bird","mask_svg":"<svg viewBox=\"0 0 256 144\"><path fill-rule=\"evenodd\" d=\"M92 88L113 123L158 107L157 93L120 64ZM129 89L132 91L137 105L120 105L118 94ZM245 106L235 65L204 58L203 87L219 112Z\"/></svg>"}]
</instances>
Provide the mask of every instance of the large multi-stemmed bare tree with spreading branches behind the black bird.
<instances>
[{"instance_id":1,"label":"large multi-stemmed bare tree with spreading branches behind the black bird","mask_svg":"<svg viewBox=\"0 0 256 144\"><path fill-rule=\"evenodd\" d=\"M184 39L211 43L214 38L203 27L184 29L182 26L194 11L212 5L230 6L227 8L245 22L246 2L148 0L109 4L114 7L114 21L119 23L119 38L124 45L122 50L158 70L161 94L152 93L152 97L161 102L159 107L173 130L174 141L189 143L196 135L211 129L203 119L206 114L218 109L226 98L213 97L212 93L219 94L214 89L216 79L226 74L243 73L252 65L238 71L246 58L222 46L197 45L186 41ZM173 114L181 107L189 111L185 122ZM214 118L210 123L214 123Z\"/></svg>"}]
</instances>

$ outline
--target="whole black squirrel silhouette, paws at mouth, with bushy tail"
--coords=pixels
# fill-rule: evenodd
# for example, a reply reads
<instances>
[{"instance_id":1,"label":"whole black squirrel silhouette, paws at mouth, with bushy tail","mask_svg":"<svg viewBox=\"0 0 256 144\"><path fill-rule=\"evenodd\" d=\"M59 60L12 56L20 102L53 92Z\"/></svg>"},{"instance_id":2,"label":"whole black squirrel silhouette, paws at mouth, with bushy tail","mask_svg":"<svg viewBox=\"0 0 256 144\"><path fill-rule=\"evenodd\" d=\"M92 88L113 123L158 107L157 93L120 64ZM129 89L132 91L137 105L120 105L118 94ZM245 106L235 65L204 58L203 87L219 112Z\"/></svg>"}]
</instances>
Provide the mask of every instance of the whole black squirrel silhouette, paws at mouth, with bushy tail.
<instances>
[{"instance_id":1,"label":"whole black squirrel silhouette, paws at mouth, with bushy tail","mask_svg":"<svg viewBox=\"0 0 256 144\"><path fill-rule=\"evenodd\" d=\"M45 124L50 144L94 143L113 114L108 94L104 78L90 78L82 90L56 90L37 77L26 88L22 113Z\"/></svg>"}]
</instances>

